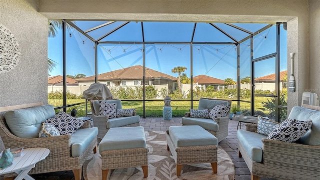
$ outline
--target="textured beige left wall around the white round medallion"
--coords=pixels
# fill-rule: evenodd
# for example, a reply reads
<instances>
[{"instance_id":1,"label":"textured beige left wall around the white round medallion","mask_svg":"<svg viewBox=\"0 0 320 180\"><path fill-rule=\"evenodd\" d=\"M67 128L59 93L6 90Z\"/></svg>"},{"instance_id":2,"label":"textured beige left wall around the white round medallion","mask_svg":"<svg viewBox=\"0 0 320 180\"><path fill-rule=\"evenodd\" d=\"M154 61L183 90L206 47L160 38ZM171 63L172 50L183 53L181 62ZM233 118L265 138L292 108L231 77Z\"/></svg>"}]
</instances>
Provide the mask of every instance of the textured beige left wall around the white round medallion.
<instances>
[{"instance_id":1,"label":"textured beige left wall around the white round medallion","mask_svg":"<svg viewBox=\"0 0 320 180\"><path fill-rule=\"evenodd\" d=\"M0 22L20 46L20 60L0 74L0 107L47 102L47 19L33 7L37 2L0 0Z\"/></svg>"}]
</instances>

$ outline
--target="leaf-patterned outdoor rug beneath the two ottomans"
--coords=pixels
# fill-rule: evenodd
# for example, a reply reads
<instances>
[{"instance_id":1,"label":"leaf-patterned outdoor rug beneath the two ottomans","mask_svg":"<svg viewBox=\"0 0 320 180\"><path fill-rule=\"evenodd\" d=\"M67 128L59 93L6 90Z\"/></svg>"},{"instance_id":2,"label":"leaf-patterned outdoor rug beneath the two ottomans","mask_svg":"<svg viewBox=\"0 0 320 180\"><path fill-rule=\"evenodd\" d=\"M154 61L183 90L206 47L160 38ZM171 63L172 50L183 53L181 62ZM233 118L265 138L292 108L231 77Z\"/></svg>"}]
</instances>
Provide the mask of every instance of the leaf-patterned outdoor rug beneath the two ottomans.
<instances>
[{"instance_id":1,"label":"leaf-patterned outdoor rug beneath the two ottomans","mask_svg":"<svg viewBox=\"0 0 320 180\"><path fill-rule=\"evenodd\" d=\"M233 180L234 165L228 154L218 148L217 174L213 174L210 163L183 165L177 177L175 163L166 149L165 131L145 132L149 149L148 177L143 178L141 167L110 170L108 180ZM83 165L84 180L101 180L101 156L91 154ZM111 173L111 175L110 175Z\"/></svg>"}]
</instances>

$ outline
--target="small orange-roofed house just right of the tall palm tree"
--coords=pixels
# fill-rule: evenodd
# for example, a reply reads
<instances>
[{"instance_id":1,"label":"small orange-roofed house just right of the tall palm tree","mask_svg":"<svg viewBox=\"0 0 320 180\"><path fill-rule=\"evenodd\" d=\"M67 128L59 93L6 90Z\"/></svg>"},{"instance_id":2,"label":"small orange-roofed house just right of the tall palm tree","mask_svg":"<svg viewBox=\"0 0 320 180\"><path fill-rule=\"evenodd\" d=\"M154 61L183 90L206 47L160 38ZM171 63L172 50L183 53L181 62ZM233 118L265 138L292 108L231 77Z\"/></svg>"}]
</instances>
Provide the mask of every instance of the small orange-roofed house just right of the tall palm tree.
<instances>
[{"instance_id":1,"label":"small orange-roofed house just right of the tall palm tree","mask_svg":"<svg viewBox=\"0 0 320 180\"><path fill-rule=\"evenodd\" d=\"M214 89L219 90L224 88L224 80L217 79L206 75L198 75L193 77L193 82L197 83L199 87L205 89L208 86L213 86Z\"/></svg>"}]
</instances>

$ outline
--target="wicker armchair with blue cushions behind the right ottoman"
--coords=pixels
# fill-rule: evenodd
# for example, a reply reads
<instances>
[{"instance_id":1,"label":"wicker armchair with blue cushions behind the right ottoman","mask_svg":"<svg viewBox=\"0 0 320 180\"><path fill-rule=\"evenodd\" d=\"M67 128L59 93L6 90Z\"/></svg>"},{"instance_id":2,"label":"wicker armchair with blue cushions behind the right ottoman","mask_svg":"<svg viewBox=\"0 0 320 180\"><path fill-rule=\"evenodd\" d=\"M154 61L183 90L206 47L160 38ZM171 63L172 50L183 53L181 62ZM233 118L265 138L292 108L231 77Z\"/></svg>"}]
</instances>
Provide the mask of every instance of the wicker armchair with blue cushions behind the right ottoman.
<instances>
[{"instance_id":1,"label":"wicker armchair with blue cushions behind the right ottoman","mask_svg":"<svg viewBox=\"0 0 320 180\"><path fill-rule=\"evenodd\" d=\"M200 98L198 110L211 110L214 106L220 103L229 107L231 106L231 100ZM186 112L184 114L184 117L182 117L181 119L181 124L182 126L199 125L203 129L214 135L218 139L218 142L220 142L228 136L229 113L230 111L226 116L217 118L216 122L214 122L212 119L191 118L190 113Z\"/></svg>"}]
</instances>

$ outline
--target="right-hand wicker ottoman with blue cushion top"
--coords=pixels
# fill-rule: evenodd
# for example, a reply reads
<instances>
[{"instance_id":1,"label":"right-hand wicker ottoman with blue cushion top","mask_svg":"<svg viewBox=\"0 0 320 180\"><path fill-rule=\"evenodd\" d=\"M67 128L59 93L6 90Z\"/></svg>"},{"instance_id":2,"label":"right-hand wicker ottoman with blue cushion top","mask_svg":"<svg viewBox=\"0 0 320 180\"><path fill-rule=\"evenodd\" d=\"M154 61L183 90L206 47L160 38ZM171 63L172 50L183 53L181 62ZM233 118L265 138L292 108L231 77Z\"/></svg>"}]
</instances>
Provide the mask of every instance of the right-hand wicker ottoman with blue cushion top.
<instances>
[{"instance_id":1,"label":"right-hand wicker ottoman with blue cushion top","mask_svg":"<svg viewBox=\"0 0 320 180\"><path fill-rule=\"evenodd\" d=\"M217 172L218 140L200 126L171 126L166 142L176 164L176 176L180 176L182 165L196 163L211 163L213 173Z\"/></svg>"}]
</instances>

